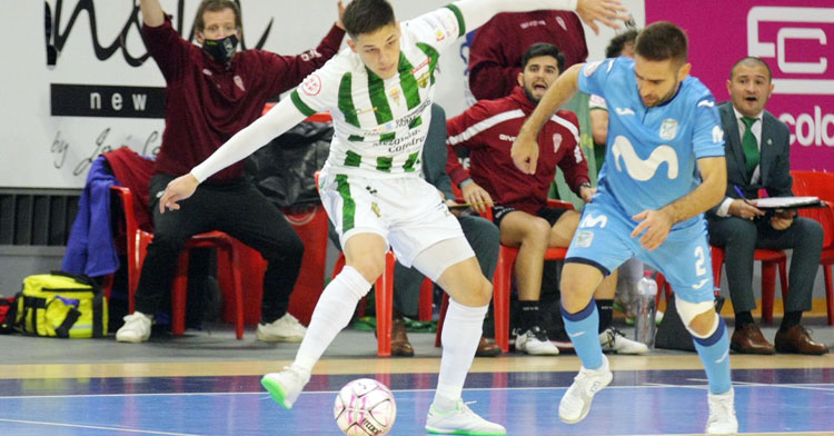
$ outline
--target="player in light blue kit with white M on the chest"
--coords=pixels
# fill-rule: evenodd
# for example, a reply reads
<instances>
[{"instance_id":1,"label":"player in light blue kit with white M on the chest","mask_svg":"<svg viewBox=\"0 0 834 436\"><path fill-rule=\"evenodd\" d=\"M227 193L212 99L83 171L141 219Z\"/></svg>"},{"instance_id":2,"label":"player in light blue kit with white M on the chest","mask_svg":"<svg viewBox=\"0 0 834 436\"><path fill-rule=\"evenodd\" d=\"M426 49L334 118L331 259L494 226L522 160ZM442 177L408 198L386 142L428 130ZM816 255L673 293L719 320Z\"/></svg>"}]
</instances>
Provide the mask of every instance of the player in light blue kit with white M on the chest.
<instances>
[{"instance_id":1,"label":"player in light blue kit with white M on the chest","mask_svg":"<svg viewBox=\"0 0 834 436\"><path fill-rule=\"evenodd\" d=\"M562 272L565 329L583 367L559 404L559 418L585 418L612 380L596 331L594 289L633 255L663 272L695 340L709 380L707 434L738 430L729 379L729 339L713 305L713 275L703 214L726 187L724 138L715 99L688 77L687 41L669 22L646 27L636 56L577 65L550 87L513 146L535 171L540 127L577 89L599 95L610 112L599 189L585 206Z\"/></svg>"}]
</instances>

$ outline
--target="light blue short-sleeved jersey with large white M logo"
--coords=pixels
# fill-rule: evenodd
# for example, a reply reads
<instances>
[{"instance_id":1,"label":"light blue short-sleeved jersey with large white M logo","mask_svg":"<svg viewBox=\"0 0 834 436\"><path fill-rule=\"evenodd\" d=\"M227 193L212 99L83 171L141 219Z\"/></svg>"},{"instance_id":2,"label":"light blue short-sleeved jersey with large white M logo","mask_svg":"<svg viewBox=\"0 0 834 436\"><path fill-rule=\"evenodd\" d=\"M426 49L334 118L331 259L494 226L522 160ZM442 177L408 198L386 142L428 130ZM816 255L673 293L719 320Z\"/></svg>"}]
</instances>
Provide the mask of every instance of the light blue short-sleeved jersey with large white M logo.
<instances>
[{"instance_id":1,"label":"light blue short-sleeved jersey with large white M logo","mask_svg":"<svg viewBox=\"0 0 834 436\"><path fill-rule=\"evenodd\" d=\"M646 108L634 61L620 57L585 65L579 89L604 97L608 105L608 147L599 186L628 216L659 209L689 194L701 184L697 159L724 156L715 98L694 77L684 79L671 101Z\"/></svg>"}]
</instances>

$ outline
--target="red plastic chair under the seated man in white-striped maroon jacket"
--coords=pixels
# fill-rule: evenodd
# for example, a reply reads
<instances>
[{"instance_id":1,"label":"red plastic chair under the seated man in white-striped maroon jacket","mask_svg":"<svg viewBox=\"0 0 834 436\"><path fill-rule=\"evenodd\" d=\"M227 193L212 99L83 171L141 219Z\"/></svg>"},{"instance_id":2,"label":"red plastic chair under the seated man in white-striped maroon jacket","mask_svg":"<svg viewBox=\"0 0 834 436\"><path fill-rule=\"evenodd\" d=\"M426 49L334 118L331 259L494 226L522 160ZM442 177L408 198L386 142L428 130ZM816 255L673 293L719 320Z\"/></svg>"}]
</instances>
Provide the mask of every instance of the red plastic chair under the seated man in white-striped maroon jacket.
<instances>
[{"instance_id":1,"label":"red plastic chair under the seated man in white-striped maroon jacket","mask_svg":"<svg viewBox=\"0 0 834 436\"><path fill-rule=\"evenodd\" d=\"M547 200L550 208L574 209L574 205L562 200ZM493 220L492 209L487 209L486 218ZM545 260L565 260L567 247L548 248L545 252ZM502 245L498 249L498 264L495 267L493 276L493 313L495 319L495 343L502 348L502 351L509 353L509 295L513 291L513 267L518 257L518 248ZM444 294L440 306L440 320L437 324L437 335L435 337L435 347L441 345L443 323L446 318L448 308L448 294Z\"/></svg>"}]
</instances>

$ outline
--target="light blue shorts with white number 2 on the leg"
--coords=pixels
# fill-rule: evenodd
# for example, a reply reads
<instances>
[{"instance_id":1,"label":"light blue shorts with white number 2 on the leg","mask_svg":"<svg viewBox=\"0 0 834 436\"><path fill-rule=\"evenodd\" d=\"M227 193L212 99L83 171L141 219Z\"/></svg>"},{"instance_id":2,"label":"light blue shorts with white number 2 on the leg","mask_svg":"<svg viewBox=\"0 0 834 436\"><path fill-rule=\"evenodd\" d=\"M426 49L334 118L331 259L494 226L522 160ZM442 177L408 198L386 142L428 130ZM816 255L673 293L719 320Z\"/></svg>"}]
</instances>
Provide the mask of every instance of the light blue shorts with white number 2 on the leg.
<instances>
[{"instance_id":1,"label":"light blue shorts with white number 2 on the leg","mask_svg":"<svg viewBox=\"0 0 834 436\"><path fill-rule=\"evenodd\" d=\"M607 276L636 256L666 276L678 298L688 303L712 301L713 264L704 219L673 228L654 251L641 246L639 236L632 238L637 224L610 195L595 196L594 202L585 205L565 261L595 266Z\"/></svg>"}]
</instances>

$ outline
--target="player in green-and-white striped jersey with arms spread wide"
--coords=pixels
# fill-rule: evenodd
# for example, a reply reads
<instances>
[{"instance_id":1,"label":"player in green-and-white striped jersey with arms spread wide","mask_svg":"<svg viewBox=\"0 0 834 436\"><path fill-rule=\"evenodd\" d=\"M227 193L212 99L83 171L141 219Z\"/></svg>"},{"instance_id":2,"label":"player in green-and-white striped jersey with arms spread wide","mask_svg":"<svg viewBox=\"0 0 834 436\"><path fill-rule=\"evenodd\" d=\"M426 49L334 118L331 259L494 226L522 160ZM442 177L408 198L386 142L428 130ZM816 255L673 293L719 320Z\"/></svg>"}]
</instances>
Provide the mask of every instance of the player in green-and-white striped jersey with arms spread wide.
<instances>
[{"instance_id":1,"label":"player in green-and-white striped jersey with arms spread wide","mask_svg":"<svg viewBox=\"0 0 834 436\"><path fill-rule=\"evenodd\" d=\"M161 207L177 209L211 174L242 159L317 111L330 110L335 133L319 178L322 204L339 232L346 266L325 288L295 363L261 380L290 408L316 361L347 326L383 274L390 246L449 296L430 433L504 435L461 399L492 296L460 226L437 189L419 177L439 53L494 13L576 7L586 21L624 19L616 0L459 0L401 24L386 0L354 0L345 50L310 75L290 99L241 130L191 174L168 186Z\"/></svg>"}]
</instances>

